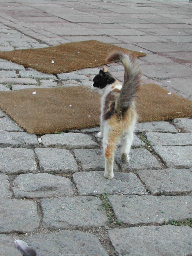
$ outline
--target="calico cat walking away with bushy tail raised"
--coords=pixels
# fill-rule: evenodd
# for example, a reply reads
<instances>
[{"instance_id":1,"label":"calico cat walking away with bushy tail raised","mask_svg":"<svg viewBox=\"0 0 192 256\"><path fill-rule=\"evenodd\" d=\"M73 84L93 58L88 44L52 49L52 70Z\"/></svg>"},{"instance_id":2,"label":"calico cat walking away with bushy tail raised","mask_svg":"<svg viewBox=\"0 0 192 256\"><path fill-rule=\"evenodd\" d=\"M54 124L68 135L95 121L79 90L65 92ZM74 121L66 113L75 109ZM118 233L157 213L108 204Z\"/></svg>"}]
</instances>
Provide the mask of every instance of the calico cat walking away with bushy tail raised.
<instances>
[{"instance_id":1,"label":"calico cat walking away with bushy tail raised","mask_svg":"<svg viewBox=\"0 0 192 256\"><path fill-rule=\"evenodd\" d=\"M129 161L129 152L136 124L135 97L140 84L140 67L138 60L129 54L113 52L106 60L118 60L124 65L124 83L121 86L104 66L93 79L92 90L102 94L100 132L103 138L105 156L104 176L114 177L113 163L116 146L121 144L121 160Z\"/></svg>"}]
</instances>

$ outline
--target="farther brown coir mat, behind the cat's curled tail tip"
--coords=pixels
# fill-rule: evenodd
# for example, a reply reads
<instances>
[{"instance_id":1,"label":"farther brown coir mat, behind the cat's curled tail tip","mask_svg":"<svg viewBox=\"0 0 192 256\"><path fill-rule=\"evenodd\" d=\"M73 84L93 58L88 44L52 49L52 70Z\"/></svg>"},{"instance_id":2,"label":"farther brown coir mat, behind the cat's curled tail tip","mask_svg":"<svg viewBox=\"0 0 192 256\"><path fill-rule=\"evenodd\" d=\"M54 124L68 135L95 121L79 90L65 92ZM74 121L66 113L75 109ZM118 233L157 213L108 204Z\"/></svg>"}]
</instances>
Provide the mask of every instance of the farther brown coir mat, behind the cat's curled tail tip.
<instances>
[{"instance_id":1,"label":"farther brown coir mat, behind the cat's curled tail tip","mask_svg":"<svg viewBox=\"0 0 192 256\"><path fill-rule=\"evenodd\" d=\"M114 50L130 53L136 57L146 56L142 52L133 52L112 44L89 40L39 49L0 52L0 58L11 60L25 68L34 68L47 74L57 74L104 65L106 56Z\"/></svg>"}]
</instances>

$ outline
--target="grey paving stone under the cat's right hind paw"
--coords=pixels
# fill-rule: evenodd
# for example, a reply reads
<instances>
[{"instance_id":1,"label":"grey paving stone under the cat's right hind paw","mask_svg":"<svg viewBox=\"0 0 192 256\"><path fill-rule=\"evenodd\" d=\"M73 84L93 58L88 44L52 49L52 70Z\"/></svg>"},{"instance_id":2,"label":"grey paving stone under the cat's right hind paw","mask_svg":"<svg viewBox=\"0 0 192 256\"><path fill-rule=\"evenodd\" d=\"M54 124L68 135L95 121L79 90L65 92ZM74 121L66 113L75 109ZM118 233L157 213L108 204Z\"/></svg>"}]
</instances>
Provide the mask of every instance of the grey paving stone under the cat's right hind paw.
<instances>
[{"instance_id":1,"label":"grey paving stone under the cat's right hind paw","mask_svg":"<svg viewBox=\"0 0 192 256\"><path fill-rule=\"evenodd\" d=\"M129 162L125 163L120 159L120 150L117 150L115 160L120 165L122 171L135 171L144 169L160 169L156 158L144 148L131 149Z\"/></svg>"}]
</instances>

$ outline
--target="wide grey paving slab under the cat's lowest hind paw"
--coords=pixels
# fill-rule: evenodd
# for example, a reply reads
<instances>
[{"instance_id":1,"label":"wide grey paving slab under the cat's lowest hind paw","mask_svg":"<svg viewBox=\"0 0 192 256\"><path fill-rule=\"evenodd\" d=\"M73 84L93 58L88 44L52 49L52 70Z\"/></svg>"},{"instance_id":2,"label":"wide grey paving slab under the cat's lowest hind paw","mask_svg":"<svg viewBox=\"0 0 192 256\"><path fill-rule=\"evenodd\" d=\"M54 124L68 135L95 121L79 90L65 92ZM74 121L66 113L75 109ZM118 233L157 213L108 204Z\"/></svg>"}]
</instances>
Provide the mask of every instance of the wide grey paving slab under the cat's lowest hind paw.
<instances>
[{"instance_id":1,"label":"wide grey paving slab under the cat's lowest hind paw","mask_svg":"<svg viewBox=\"0 0 192 256\"><path fill-rule=\"evenodd\" d=\"M78 195L94 196L108 194L147 194L143 184L134 173L114 172L112 180L104 177L104 172L78 172L73 174Z\"/></svg>"}]
</instances>

